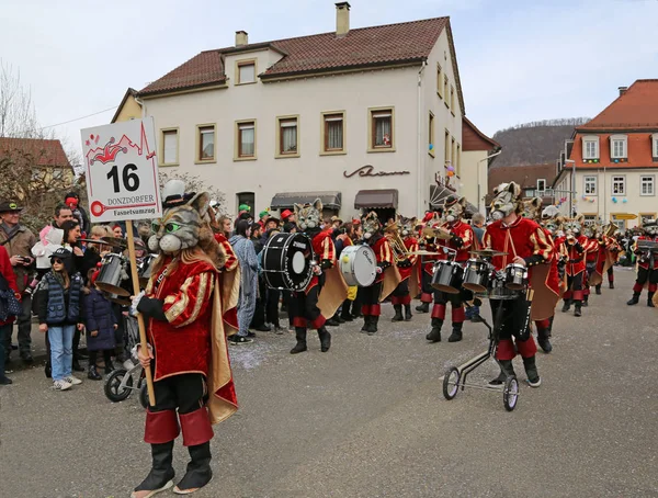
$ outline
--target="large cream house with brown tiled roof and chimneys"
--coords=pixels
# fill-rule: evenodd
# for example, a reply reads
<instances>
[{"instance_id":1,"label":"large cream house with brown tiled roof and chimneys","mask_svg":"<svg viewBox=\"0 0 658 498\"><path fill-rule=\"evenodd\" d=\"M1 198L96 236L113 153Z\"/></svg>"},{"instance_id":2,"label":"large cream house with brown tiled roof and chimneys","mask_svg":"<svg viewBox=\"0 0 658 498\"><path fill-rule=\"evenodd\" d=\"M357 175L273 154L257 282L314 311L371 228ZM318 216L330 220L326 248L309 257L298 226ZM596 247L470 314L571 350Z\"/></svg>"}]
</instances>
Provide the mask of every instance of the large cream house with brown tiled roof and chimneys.
<instances>
[{"instance_id":1,"label":"large cream house with brown tiled roof and chimneys","mask_svg":"<svg viewBox=\"0 0 658 498\"><path fill-rule=\"evenodd\" d=\"M350 4L336 9L334 32L250 44L238 31L235 46L140 90L160 167L214 184L231 213L320 196L345 219L370 208L412 216L436 197L436 177L470 185L479 156L464 161L450 19L350 29Z\"/></svg>"}]
</instances>

